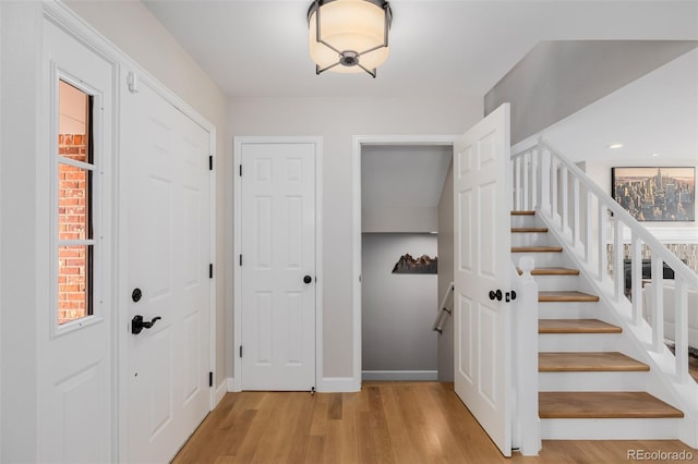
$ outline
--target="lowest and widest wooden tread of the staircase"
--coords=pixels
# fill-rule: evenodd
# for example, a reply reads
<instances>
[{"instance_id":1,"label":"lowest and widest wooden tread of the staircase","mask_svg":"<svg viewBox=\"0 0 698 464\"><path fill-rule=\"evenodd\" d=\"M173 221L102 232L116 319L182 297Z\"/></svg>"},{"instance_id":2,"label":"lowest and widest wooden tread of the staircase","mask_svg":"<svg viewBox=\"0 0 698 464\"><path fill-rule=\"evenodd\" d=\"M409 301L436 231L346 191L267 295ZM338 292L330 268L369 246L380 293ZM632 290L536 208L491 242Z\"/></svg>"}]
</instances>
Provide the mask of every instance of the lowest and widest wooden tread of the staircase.
<instances>
[{"instance_id":1,"label":"lowest and widest wooden tread of the staircase","mask_svg":"<svg viewBox=\"0 0 698 464\"><path fill-rule=\"evenodd\" d=\"M684 413L642 391L540 392L541 418L670 418Z\"/></svg>"}]
</instances>

